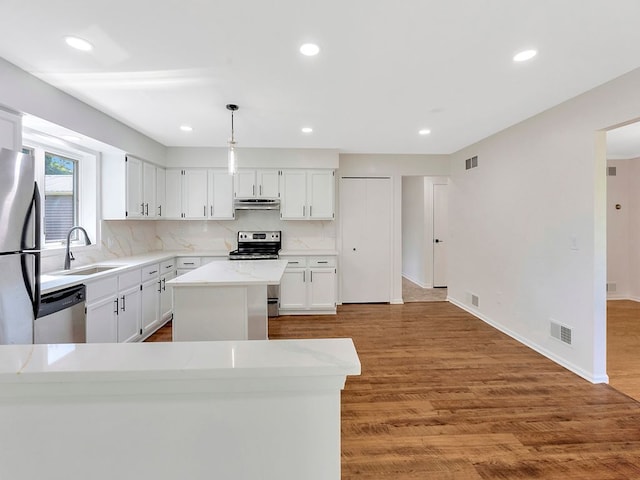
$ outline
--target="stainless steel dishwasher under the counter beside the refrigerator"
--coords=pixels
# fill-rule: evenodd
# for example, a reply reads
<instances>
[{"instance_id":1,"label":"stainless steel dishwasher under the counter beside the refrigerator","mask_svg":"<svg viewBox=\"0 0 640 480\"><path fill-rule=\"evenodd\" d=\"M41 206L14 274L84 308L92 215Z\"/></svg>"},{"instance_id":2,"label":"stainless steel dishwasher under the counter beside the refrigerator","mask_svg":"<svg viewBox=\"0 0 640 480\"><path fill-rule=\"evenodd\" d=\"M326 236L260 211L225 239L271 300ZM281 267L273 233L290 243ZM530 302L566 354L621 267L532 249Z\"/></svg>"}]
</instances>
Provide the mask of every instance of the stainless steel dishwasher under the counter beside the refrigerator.
<instances>
[{"instance_id":1,"label":"stainless steel dishwasher under the counter beside the refrigerator","mask_svg":"<svg viewBox=\"0 0 640 480\"><path fill-rule=\"evenodd\" d=\"M85 299L84 285L42 295L33 327L33 343L85 343Z\"/></svg>"}]
</instances>

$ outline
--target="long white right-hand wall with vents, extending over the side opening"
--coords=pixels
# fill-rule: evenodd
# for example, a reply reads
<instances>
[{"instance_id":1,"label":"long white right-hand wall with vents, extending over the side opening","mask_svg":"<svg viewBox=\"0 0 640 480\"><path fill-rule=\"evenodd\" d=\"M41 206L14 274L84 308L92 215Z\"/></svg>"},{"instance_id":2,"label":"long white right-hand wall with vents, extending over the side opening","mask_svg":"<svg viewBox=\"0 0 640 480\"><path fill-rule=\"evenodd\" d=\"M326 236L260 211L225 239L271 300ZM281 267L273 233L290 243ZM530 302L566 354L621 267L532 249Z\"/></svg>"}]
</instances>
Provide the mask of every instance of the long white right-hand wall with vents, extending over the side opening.
<instances>
[{"instance_id":1,"label":"long white right-hand wall with vents, extending over the side opening","mask_svg":"<svg viewBox=\"0 0 640 480\"><path fill-rule=\"evenodd\" d=\"M639 84L640 69L452 155L449 298L593 382L607 381L599 131L640 115Z\"/></svg>"}]
</instances>

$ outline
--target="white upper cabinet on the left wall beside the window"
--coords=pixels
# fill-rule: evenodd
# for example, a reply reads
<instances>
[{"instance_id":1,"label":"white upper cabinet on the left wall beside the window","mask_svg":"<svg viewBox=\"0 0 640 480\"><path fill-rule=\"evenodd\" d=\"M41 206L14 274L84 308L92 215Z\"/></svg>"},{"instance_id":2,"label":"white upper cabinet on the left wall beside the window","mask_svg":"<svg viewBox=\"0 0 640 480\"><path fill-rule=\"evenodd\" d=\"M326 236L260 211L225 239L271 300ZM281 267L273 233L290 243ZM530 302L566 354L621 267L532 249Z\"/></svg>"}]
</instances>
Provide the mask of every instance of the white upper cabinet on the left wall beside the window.
<instances>
[{"instance_id":1,"label":"white upper cabinet on the left wall beside the window","mask_svg":"<svg viewBox=\"0 0 640 480\"><path fill-rule=\"evenodd\" d=\"M103 158L103 218L120 220L161 216L157 198L158 175L164 185L162 167L132 156ZM164 202L163 196L164 186L160 196Z\"/></svg>"}]
</instances>

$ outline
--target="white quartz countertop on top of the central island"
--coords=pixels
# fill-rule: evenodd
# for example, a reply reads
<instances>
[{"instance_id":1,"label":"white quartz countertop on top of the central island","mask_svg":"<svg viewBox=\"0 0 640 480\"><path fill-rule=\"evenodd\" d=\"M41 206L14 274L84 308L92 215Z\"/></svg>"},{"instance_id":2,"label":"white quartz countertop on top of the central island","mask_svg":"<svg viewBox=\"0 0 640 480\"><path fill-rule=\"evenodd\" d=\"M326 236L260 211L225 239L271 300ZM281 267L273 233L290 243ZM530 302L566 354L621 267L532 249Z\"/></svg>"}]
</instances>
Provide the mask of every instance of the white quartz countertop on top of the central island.
<instances>
[{"instance_id":1,"label":"white quartz countertop on top of the central island","mask_svg":"<svg viewBox=\"0 0 640 480\"><path fill-rule=\"evenodd\" d=\"M278 285L286 260L233 260L211 262L167 282L173 287Z\"/></svg>"}]
</instances>

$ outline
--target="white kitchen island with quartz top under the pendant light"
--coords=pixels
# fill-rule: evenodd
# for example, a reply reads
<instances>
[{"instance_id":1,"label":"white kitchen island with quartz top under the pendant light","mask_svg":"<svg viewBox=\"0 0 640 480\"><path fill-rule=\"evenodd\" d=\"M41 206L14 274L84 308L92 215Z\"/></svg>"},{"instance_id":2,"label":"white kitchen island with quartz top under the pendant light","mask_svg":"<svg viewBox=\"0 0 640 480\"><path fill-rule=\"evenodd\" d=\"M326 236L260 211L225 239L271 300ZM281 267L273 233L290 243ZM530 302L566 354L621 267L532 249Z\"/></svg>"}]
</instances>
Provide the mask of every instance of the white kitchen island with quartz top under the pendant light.
<instances>
[{"instance_id":1,"label":"white kitchen island with quartz top under the pendant light","mask_svg":"<svg viewBox=\"0 0 640 480\"><path fill-rule=\"evenodd\" d=\"M266 340L267 286L286 260L211 262L167 282L173 290L173 341Z\"/></svg>"}]
</instances>

